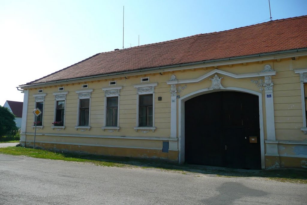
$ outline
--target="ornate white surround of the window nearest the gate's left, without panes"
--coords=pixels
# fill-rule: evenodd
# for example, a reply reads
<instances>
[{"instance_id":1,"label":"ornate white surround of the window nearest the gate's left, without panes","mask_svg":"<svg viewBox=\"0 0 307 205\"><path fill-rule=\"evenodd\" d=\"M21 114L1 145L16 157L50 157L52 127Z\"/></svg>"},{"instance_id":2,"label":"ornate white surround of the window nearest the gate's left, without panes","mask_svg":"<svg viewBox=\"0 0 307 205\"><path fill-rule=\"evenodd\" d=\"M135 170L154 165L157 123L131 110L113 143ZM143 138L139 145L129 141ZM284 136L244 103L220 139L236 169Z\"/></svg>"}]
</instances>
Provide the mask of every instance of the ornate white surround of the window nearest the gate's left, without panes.
<instances>
[{"instance_id":1,"label":"ornate white surround of the window nearest the gate's left, without panes","mask_svg":"<svg viewBox=\"0 0 307 205\"><path fill-rule=\"evenodd\" d=\"M133 87L137 89L137 98L136 98L136 127L134 127L135 132L138 132L138 130L152 130L154 132L157 128L154 126L154 116L155 116L155 106L154 106L154 88L157 86L158 83L147 83L147 84L141 84L141 85L134 85ZM147 95L152 94L153 95L153 126L152 127L139 127L139 95ZM145 132L144 132L145 133Z\"/></svg>"}]
</instances>

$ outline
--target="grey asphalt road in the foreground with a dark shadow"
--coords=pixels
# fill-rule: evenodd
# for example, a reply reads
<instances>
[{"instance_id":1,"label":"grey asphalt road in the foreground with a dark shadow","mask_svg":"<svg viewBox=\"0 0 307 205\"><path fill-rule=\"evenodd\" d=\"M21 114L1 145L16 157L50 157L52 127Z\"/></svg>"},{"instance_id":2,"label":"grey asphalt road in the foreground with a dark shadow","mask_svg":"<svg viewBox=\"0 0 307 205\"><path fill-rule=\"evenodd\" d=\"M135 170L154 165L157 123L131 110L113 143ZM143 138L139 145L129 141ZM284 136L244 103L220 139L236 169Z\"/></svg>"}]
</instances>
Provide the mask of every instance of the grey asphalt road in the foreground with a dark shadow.
<instances>
[{"instance_id":1,"label":"grey asphalt road in the foreground with a dark shadow","mask_svg":"<svg viewBox=\"0 0 307 205\"><path fill-rule=\"evenodd\" d=\"M0 204L306 204L305 184L0 155Z\"/></svg>"}]
</instances>

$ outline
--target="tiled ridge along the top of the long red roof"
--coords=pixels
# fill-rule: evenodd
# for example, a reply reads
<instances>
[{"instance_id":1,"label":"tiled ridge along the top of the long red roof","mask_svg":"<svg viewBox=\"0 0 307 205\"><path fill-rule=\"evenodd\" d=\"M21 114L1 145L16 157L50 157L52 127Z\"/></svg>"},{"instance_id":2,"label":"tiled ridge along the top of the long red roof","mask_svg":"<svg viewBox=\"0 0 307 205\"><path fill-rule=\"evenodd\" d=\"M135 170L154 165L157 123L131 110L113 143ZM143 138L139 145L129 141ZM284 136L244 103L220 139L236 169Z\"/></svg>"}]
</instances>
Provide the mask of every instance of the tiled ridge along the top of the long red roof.
<instances>
[{"instance_id":1,"label":"tiled ridge along the top of the long red roof","mask_svg":"<svg viewBox=\"0 0 307 205\"><path fill-rule=\"evenodd\" d=\"M192 36L181 37L181 38L175 38L175 39L171 39L171 40L167 40L167 41L160 41L160 42L149 43L149 44L144 44L144 45L137 45L137 46L133 46L133 47L130 47L130 48L119 49L119 50L113 50L113 51L111 50L111 51L101 52L101 53L97 53L97 54L100 55L100 54L121 52L121 51L128 50L128 49L136 49L136 48L140 48L140 47L147 47L147 46L151 46L151 45L164 44L164 43L169 43L169 42L174 42L174 41L185 40L185 39L193 38L193 37L196 37L196 36L212 35L212 34L217 34L217 33L222 33L222 32L229 32L229 31L239 30L239 29L241 30L241 29L244 29L244 28L247 28L247 27L259 26L260 24L267 24L267 23L277 22L277 21L292 20L293 18L306 18L306 17L307 17L307 15L296 16L296 17L289 17L289 18L282 18L282 19L276 19L276 20L273 20L273 21L262 22L262 23L256 23L256 24L252 24L252 25L248 25L248 26L241 26L241 27L233 28L233 29L229 29L229 30L214 31L214 32L204 33L204 34L195 34L195 35L192 35Z\"/></svg>"}]
</instances>

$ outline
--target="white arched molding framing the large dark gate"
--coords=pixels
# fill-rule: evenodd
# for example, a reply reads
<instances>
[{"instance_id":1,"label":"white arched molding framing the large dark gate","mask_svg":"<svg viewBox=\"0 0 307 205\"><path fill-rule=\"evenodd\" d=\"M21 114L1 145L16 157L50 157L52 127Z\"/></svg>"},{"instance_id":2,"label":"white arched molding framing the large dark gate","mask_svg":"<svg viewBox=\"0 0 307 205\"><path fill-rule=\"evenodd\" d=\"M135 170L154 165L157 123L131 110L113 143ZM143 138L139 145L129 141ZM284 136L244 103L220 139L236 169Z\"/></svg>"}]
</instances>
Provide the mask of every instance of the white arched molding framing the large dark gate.
<instances>
[{"instance_id":1,"label":"white arched molding framing the large dark gate","mask_svg":"<svg viewBox=\"0 0 307 205\"><path fill-rule=\"evenodd\" d=\"M185 101L190 100L193 97L199 95L220 92L220 91L236 91L242 93L249 93L258 96L259 100L259 126L260 126L260 152L261 152L261 168L265 168L264 160L264 129L263 129L263 113L262 113L262 93L236 87L227 87L225 89L201 89L195 92L189 93L178 100L178 162L185 162Z\"/></svg>"}]
</instances>

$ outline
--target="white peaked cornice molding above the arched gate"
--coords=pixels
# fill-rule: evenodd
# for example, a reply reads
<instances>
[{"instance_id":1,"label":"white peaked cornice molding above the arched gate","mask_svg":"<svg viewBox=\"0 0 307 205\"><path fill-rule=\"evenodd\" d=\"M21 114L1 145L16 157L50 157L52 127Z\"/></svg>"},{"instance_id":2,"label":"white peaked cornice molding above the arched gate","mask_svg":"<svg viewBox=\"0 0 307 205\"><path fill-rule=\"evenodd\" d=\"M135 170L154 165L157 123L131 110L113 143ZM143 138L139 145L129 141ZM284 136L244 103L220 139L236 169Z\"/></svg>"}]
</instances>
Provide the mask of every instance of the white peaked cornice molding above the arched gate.
<instances>
[{"instance_id":1,"label":"white peaked cornice molding above the arched gate","mask_svg":"<svg viewBox=\"0 0 307 205\"><path fill-rule=\"evenodd\" d=\"M276 75L276 71L270 71L270 72L259 72L259 73L246 73L246 74L233 74L233 73L229 73L223 70L219 70L219 69L214 69L212 71L210 71L209 73L204 74L203 76L200 76L198 78L195 79L187 79L187 80L177 80L177 81L167 81L166 83L168 85L171 84L184 84L184 83L198 83L216 73L225 75L225 76L229 76L235 79L242 79L242 78L251 78L251 77L264 77L264 76L274 76Z\"/></svg>"}]
</instances>

